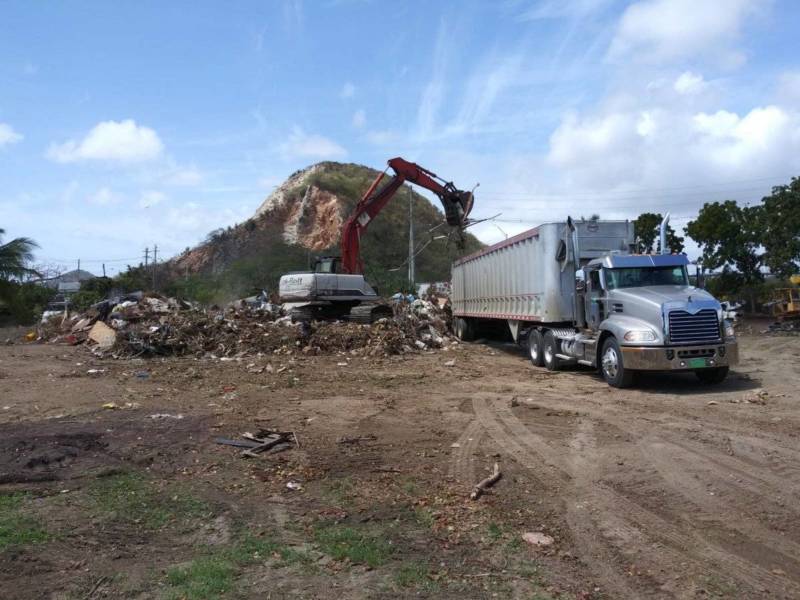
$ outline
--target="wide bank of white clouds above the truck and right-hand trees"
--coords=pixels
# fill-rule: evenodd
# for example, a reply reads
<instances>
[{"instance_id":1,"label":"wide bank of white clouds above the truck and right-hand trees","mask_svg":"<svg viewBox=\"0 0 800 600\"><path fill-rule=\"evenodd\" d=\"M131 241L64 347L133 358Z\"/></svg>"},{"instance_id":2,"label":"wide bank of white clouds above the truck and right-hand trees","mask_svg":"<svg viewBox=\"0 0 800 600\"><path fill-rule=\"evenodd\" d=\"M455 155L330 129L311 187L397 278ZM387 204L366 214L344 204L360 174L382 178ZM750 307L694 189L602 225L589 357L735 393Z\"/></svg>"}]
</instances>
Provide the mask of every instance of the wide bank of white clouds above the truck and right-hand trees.
<instances>
[{"instance_id":1,"label":"wide bank of white clouds above the truck and right-hand trees","mask_svg":"<svg viewBox=\"0 0 800 600\"><path fill-rule=\"evenodd\" d=\"M547 161L562 185L581 190L774 177L800 169L800 113L774 105L743 114L693 111L686 104L572 114L553 132Z\"/></svg>"}]
</instances>

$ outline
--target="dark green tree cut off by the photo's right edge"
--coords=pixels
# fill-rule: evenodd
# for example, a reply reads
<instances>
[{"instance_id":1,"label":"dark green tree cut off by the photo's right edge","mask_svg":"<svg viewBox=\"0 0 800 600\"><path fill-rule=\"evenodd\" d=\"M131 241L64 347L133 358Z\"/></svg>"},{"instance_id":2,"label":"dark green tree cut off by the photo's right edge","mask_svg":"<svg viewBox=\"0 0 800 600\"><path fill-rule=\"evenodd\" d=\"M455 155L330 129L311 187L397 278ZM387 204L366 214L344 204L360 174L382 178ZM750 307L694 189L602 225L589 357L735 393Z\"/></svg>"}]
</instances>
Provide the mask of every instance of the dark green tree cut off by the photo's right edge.
<instances>
[{"instance_id":1,"label":"dark green tree cut off by the photo's right edge","mask_svg":"<svg viewBox=\"0 0 800 600\"><path fill-rule=\"evenodd\" d=\"M800 272L800 178L772 188L760 213L764 263L782 279Z\"/></svg>"}]
</instances>

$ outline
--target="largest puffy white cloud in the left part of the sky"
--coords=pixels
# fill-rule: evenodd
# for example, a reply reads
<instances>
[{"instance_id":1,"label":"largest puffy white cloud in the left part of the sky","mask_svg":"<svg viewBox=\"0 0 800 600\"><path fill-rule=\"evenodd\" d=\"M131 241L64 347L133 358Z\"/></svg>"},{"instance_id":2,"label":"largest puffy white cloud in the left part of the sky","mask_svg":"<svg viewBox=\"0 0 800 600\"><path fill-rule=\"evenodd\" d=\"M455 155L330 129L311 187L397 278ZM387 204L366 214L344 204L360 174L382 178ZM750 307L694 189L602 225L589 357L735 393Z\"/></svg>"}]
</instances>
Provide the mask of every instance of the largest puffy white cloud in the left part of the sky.
<instances>
[{"instance_id":1,"label":"largest puffy white cloud in the left part of the sky","mask_svg":"<svg viewBox=\"0 0 800 600\"><path fill-rule=\"evenodd\" d=\"M60 163L92 160L137 163L158 158L163 151L164 145L153 129L126 119L98 123L80 141L51 144L46 155Z\"/></svg>"}]
</instances>

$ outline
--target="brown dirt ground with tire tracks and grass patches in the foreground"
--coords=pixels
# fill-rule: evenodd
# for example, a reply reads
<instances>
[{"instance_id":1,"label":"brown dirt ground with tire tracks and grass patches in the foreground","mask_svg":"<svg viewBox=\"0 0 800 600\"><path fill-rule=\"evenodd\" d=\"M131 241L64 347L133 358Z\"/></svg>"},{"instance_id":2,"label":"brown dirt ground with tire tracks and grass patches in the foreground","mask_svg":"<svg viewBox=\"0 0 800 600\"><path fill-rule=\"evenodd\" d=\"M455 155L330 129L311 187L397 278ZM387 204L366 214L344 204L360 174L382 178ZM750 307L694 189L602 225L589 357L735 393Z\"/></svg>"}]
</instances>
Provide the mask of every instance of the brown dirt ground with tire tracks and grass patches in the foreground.
<instances>
[{"instance_id":1,"label":"brown dirt ground with tire tracks and grass patches in the foreground","mask_svg":"<svg viewBox=\"0 0 800 600\"><path fill-rule=\"evenodd\" d=\"M740 344L721 386L631 390L501 343L2 346L0 597L800 597L800 337ZM299 447L214 442L264 428Z\"/></svg>"}]
</instances>

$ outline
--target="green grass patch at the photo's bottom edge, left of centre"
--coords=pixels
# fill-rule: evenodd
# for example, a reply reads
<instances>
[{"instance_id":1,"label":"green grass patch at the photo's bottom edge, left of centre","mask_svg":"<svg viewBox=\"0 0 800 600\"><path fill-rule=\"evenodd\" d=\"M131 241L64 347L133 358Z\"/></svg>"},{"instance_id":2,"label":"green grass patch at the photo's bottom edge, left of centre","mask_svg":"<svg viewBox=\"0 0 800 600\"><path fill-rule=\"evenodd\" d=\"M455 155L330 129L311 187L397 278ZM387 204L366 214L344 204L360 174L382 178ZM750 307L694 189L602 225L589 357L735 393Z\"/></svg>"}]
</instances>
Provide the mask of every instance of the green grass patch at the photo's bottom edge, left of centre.
<instances>
[{"instance_id":1,"label":"green grass patch at the photo's bottom edge, left of centre","mask_svg":"<svg viewBox=\"0 0 800 600\"><path fill-rule=\"evenodd\" d=\"M221 556L204 556L189 565L167 571L170 600L205 600L219 598L234 586L236 568Z\"/></svg>"}]
</instances>

